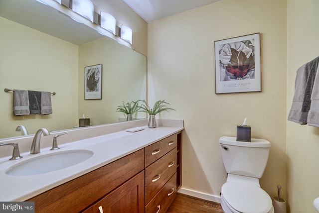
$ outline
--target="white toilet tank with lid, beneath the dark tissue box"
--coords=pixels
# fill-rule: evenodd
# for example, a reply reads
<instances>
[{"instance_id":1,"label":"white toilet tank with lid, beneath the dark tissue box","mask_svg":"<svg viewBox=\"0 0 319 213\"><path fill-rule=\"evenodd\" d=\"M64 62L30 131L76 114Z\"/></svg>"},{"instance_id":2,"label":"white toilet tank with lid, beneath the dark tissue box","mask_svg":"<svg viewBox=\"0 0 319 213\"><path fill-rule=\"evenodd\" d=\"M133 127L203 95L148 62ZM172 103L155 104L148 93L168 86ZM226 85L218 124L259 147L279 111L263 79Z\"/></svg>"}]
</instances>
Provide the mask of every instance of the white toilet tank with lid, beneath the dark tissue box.
<instances>
[{"instance_id":1,"label":"white toilet tank with lid, beneath the dark tissue box","mask_svg":"<svg viewBox=\"0 0 319 213\"><path fill-rule=\"evenodd\" d=\"M236 137L219 139L220 151L228 174L261 178L265 171L271 144L264 139L252 138L251 142L236 141Z\"/></svg>"}]
</instances>

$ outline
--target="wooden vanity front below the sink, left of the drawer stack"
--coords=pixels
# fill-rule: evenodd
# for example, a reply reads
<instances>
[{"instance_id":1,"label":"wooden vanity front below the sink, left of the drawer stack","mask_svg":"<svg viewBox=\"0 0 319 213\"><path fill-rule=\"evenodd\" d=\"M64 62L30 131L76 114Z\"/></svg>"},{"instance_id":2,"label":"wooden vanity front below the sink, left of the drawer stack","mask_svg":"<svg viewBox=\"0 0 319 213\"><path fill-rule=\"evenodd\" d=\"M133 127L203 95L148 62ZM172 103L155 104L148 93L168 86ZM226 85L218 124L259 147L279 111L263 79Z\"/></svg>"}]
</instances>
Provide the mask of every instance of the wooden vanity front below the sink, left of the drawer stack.
<instances>
[{"instance_id":1,"label":"wooden vanity front below the sink, left of the drawer stack","mask_svg":"<svg viewBox=\"0 0 319 213\"><path fill-rule=\"evenodd\" d=\"M110 208L120 209L111 212L124 213L130 212L126 210L130 210L131 206L144 207L144 185L144 149L141 149L27 201L35 202L36 213L76 213L83 210L89 213L92 205L94 213L99 213L95 211L94 204L101 202L103 205L103 199L110 201L111 195L116 195L117 200L112 201ZM104 213L107 213L106 209Z\"/></svg>"}]
</instances>

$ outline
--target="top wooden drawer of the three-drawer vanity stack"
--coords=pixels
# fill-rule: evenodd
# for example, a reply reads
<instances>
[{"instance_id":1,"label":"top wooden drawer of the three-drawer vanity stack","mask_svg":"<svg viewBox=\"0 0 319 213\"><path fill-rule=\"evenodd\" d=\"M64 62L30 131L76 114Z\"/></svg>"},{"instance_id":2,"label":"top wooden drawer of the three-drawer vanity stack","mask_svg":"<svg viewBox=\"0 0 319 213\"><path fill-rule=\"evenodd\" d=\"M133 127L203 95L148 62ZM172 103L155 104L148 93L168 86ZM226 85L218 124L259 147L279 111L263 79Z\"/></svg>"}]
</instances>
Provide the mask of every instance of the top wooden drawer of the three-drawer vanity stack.
<instances>
[{"instance_id":1,"label":"top wooden drawer of the three-drawer vanity stack","mask_svg":"<svg viewBox=\"0 0 319 213\"><path fill-rule=\"evenodd\" d=\"M168 136L145 148L145 167L148 167L160 157L177 146L177 134Z\"/></svg>"}]
</instances>

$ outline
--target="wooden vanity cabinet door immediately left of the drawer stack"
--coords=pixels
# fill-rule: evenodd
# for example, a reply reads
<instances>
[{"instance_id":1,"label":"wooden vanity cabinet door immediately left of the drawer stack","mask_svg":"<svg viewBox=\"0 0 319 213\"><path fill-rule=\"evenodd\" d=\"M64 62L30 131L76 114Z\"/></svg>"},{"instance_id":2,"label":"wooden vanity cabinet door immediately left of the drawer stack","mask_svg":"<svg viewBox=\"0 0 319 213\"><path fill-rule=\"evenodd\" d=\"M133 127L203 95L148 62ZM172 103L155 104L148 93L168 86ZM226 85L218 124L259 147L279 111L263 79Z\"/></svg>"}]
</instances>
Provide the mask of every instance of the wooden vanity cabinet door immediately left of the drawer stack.
<instances>
[{"instance_id":1,"label":"wooden vanity cabinet door immediately left of the drawer stack","mask_svg":"<svg viewBox=\"0 0 319 213\"><path fill-rule=\"evenodd\" d=\"M93 213L144 213L144 171L93 205Z\"/></svg>"}]
</instances>

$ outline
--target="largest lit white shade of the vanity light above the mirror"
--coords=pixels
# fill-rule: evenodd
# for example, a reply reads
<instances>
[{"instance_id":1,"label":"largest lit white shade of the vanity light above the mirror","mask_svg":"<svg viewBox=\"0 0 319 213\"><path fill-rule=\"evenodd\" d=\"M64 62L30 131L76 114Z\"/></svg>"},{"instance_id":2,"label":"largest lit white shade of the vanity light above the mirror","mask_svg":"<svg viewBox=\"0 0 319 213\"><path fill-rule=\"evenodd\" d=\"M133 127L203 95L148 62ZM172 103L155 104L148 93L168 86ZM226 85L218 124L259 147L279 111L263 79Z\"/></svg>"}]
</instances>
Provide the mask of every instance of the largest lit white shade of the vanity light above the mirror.
<instances>
[{"instance_id":1,"label":"largest lit white shade of the vanity light above the mirror","mask_svg":"<svg viewBox=\"0 0 319 213\"><path fill-rule=\"evenodd\" d=\"M91 0L72 0L72 11L89 19L93 23L94 5Z\"/></svg>"}]
</instances>

